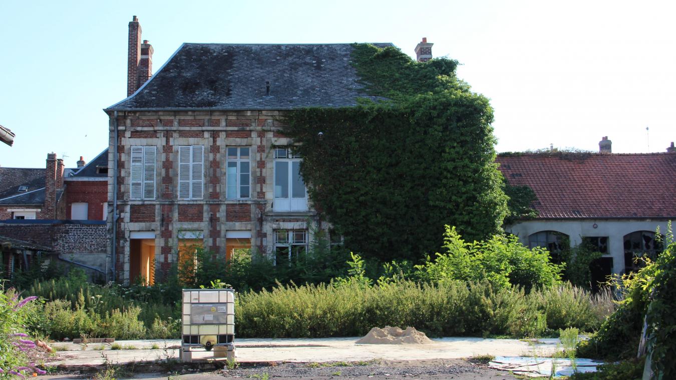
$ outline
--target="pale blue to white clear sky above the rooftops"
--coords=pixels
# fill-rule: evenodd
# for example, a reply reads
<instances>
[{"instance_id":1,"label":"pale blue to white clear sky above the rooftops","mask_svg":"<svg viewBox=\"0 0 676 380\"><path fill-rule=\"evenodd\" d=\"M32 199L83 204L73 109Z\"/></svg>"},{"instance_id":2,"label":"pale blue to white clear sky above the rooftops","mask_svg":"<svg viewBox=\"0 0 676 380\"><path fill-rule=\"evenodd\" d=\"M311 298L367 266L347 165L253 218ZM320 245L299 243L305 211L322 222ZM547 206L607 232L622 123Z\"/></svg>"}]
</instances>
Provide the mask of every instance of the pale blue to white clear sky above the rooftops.
<instances>
[{"instance_id":1,"label":"pale blue to white clear sky above the rooftops","mask_svg":"<svg viewBox=\"0 0 676 380\"><path fill-rule=\"evenodd\" d=\"M153 73L181 43L391 42L435 57L490 99L496 150L662 152L676 141L669 1L0 1L0 166L76 166L107 147L126 97L128 22ZM648 128L648 130L646 130Z\"/></svg>"}]
</instances>

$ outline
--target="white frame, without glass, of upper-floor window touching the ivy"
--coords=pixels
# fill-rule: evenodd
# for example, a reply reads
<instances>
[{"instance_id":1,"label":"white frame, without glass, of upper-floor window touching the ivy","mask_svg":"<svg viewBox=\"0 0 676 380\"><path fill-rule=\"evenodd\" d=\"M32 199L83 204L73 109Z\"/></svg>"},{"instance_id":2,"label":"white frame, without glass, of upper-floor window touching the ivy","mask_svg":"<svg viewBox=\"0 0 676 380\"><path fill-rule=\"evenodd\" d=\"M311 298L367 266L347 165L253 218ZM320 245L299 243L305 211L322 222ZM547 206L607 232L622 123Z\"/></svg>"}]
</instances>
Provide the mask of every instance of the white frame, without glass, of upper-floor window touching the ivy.
<instances>
[{"instance_id":1,"label":"white frame, without glass, of upper-floor window touching the ivy","mask_svg":"<svg viewBox=\"0 0 676 380\"><path fill-rule=\"evenodd\" d=\"M274 179L273 179L273 188L274 188L274 211L307 211L308 210L308 187L305 185L305 181L299 172L301 157L298 154L294 154L293 151L289 148L275 148L274 149ZM277 172L279 166L282 163L287 165L287 195L288 197L281 197L280 189L277 187ZM303 193L304 197L293 197L293 166L296 165L297 175L300 176L300 180L303 182Z\"/></svg>"}]
</instances>

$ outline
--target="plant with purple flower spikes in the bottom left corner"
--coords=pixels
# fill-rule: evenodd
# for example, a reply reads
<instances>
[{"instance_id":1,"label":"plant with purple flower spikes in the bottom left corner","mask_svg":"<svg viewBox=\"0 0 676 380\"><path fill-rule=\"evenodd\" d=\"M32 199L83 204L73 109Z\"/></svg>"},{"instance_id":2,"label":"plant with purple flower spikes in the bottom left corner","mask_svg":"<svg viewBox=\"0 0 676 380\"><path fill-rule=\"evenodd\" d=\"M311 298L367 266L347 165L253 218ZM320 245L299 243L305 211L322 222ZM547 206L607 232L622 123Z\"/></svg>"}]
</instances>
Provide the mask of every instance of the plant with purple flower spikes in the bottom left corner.
<instances>
[{"instance_id":1,"label":"plant with purple flower spikes in the bottom left corner","mask_svg":"<svg viewBox=\"0 0 676 380\"><path fill-rule=\"evenodd\" d=\"M0 379L25 378L32 373L45 374L31 360L36 347L25 330L30 312L26 304L36 299L20 299L15 289L0 287Z\"/></svg>"}]
</instances>

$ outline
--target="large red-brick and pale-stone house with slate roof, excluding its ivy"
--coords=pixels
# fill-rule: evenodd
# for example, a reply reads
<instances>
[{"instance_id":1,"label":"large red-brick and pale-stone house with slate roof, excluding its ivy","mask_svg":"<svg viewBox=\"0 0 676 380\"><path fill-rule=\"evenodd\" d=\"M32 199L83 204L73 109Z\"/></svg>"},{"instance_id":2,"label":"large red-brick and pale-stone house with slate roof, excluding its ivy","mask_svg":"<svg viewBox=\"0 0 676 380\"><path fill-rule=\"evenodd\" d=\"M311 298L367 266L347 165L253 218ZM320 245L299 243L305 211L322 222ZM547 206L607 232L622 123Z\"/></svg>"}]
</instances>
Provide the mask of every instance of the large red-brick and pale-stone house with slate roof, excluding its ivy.
<instances>
[{"instance_id":1,"label":"large red-brick and pale-stone house with slate roof, excluding its ivy","mask_svg":"<svg viewBox=\"0 0 676 380\"><path fill-rule=\"evenodd\" d=\"M327 225L281 116L356 105L365 95L352 45L185 43L151 75L153 48L136 16L128 41L128 97L104 110L117 280L152 283L193 244L275 260L307 250ZM432 45L418 44L419 60L431 59Z\"/></svg>"}]
</instances>

